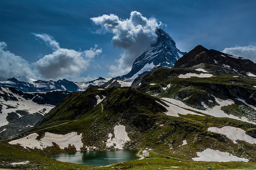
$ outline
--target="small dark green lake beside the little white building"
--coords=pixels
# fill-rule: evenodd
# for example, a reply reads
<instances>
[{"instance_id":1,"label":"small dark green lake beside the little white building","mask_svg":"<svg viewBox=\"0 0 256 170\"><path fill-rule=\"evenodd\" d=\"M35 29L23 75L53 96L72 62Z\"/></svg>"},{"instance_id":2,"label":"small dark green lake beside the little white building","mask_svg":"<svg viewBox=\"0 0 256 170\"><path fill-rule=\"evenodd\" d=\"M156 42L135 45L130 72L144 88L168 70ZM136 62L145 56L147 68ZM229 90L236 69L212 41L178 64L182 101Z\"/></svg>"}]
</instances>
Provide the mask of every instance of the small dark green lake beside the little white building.
<instances>
[{"instance_id":1,"label":"small dark green lake beside the little white building","mask_svg":"<svg viewBox=\"0 0 256 170\"><path fill-rule=\"evenodd\" d=\"M115 162L130 161L138 159L135 150L117 150L105 152L72 152L60 153L52 155L52 159L62 162L70 162L76 164L105 166Z\"/></svg>"}]
</instances>

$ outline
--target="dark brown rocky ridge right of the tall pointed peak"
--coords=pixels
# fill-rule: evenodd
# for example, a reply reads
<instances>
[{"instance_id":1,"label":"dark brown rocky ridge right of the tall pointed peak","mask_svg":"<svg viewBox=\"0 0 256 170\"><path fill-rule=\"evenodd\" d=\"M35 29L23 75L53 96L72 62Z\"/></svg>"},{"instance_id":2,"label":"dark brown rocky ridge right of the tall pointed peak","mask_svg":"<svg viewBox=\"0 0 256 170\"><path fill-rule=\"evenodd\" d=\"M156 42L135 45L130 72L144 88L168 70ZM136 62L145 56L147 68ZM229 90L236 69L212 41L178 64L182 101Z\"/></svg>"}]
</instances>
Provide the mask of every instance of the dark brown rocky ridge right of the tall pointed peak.
<instances>
[{"instance_id":1,"label":"dark brown rocky ridge right of the tall pointed peak","mask_svg":"<svg viewBox=\"0 0 256 170\"><path fill-rule=\"evenodd\" d=\"M218 69L221 74L233 73L246 75L244 72L256 74L256 64L253 61L225 54L217 50L208 50L201 45L196 46L193 50L177 60L174 67L189 68L202 63L211 64L211 66L214 65L215 69ZM225 71L222 70L223 68L225 68ZM216 73L218 73L218 70Z\"/></svg>"}]
</instances>

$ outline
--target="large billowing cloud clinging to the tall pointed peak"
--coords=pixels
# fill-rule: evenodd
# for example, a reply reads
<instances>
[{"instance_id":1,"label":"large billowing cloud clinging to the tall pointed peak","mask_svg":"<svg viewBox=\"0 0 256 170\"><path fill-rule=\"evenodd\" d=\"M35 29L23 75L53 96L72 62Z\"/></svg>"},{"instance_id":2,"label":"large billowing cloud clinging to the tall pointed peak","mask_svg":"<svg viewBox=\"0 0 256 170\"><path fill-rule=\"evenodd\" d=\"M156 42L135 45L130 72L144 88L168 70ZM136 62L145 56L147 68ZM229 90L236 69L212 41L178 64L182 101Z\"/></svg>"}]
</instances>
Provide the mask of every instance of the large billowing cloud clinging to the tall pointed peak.
<instances>
[{"instance_id":1,"label":"large billowing cloud clinging to the tall pointed peak","mask_svg":"<svg viewBox=\"0 0 256 170\"><path fill-rule=\"evenodd\" d=\"M132 11L130 18L121 19L117 15L102 15L91 18L95 25L100 25L98 32L114 34L112 44L125 49L117 60L118 65L110 67L109 75L116 77L131 70L134 60L151 47L157 40L155 31L162 25L156 18L146 18L140 12Z\"/></svg>"}]
</instances>

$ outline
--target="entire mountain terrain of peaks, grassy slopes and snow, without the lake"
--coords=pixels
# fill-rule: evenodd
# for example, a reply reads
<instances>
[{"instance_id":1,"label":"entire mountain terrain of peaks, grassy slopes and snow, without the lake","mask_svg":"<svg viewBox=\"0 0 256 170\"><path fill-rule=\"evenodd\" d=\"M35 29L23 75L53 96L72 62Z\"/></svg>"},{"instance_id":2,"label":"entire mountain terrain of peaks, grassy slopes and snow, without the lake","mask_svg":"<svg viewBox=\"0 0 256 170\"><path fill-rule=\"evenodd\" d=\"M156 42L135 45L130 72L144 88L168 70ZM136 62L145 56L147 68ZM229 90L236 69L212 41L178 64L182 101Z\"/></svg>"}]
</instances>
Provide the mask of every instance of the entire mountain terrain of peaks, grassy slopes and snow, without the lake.
<instances>
[{"instance_id":1,"label":"entire mountain terrain of peaks, grassy slopes and snow, without the lake","mask_svg":"<svg viewBox=\"0 0 256 170\"><path fill-rule=\"evenodd\" d=\"M121 80L99 79L100 86L89 87L93 81L86 83L86 89L80 85L83 91L71 93L65 89L25 93L1 87L0 128L24 117L21 109L28 115L44 113L35 123L20 125L30 125L27 131L0 141L0 167L28 162L15 164L15 168L254 169L256 64L201 45L185 54L163 30L157 34L158 41L151 46L154 51L139 56L130 73L117 77ZM12 82L16 80L27 89L35 83L17 78ZM46 100L48 95L58 101ZM21 107L32 102L39 110ZM5 138L11 132L7 130L2 130ZM93 167L48 157L60 152L120 149L135 149L139 154L148 150L150 159Z\"/></svg>"}]
</instances>

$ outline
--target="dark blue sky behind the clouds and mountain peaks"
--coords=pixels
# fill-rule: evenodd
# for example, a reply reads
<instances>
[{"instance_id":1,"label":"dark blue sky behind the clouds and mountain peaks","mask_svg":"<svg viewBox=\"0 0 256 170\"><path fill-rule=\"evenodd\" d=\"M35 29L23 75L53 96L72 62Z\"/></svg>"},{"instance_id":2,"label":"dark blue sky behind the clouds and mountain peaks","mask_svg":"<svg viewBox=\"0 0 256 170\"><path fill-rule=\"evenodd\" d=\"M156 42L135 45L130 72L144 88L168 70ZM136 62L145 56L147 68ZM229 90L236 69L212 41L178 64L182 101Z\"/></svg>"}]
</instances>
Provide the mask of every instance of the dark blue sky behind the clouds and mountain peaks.
<instances>
[{"instance_id":1,"label":"dark blue sky behind the clouds and mountain peaks","mask_svg":"<svg viewBox=\"0 0 256 170\"><path fill-rule=\"evenodd\" d=\"M45 41L32 33L48 34L59 43L60 48L78 52L94 48L97 44L97 49L101 49L102 52L87 60L86 67L79 67L83 70L74 72L76 75L46 77L45 74L37 74L32 78L67 78L82 81L99 76L109 77L109 67L118 65L116 60L124 53L124 49L113 47L111 39L114 34L111 32L95 33L100 26L95 25L90 18L115 14L126 19L130 18L131 11L138 11L143 17L154 17L165 24L166 27L160 27L170 34L181 51L188 52L201 44L208 49L219 51L236 47L237 54L240 54L240 51L249 47L248 54L245 53L248 56L242 57L255 62L255 9L254 0L1 1L0 42L7 44L5 52L10 51L15 56L25 59L32 71L35 69L36 61L54 52ZM253 52L254 54L251 54ZM10 70L0 70L3 74L0 79L22 76ZM32 76L25 76L29 75Z\"/></svg>"}]
</instances>

